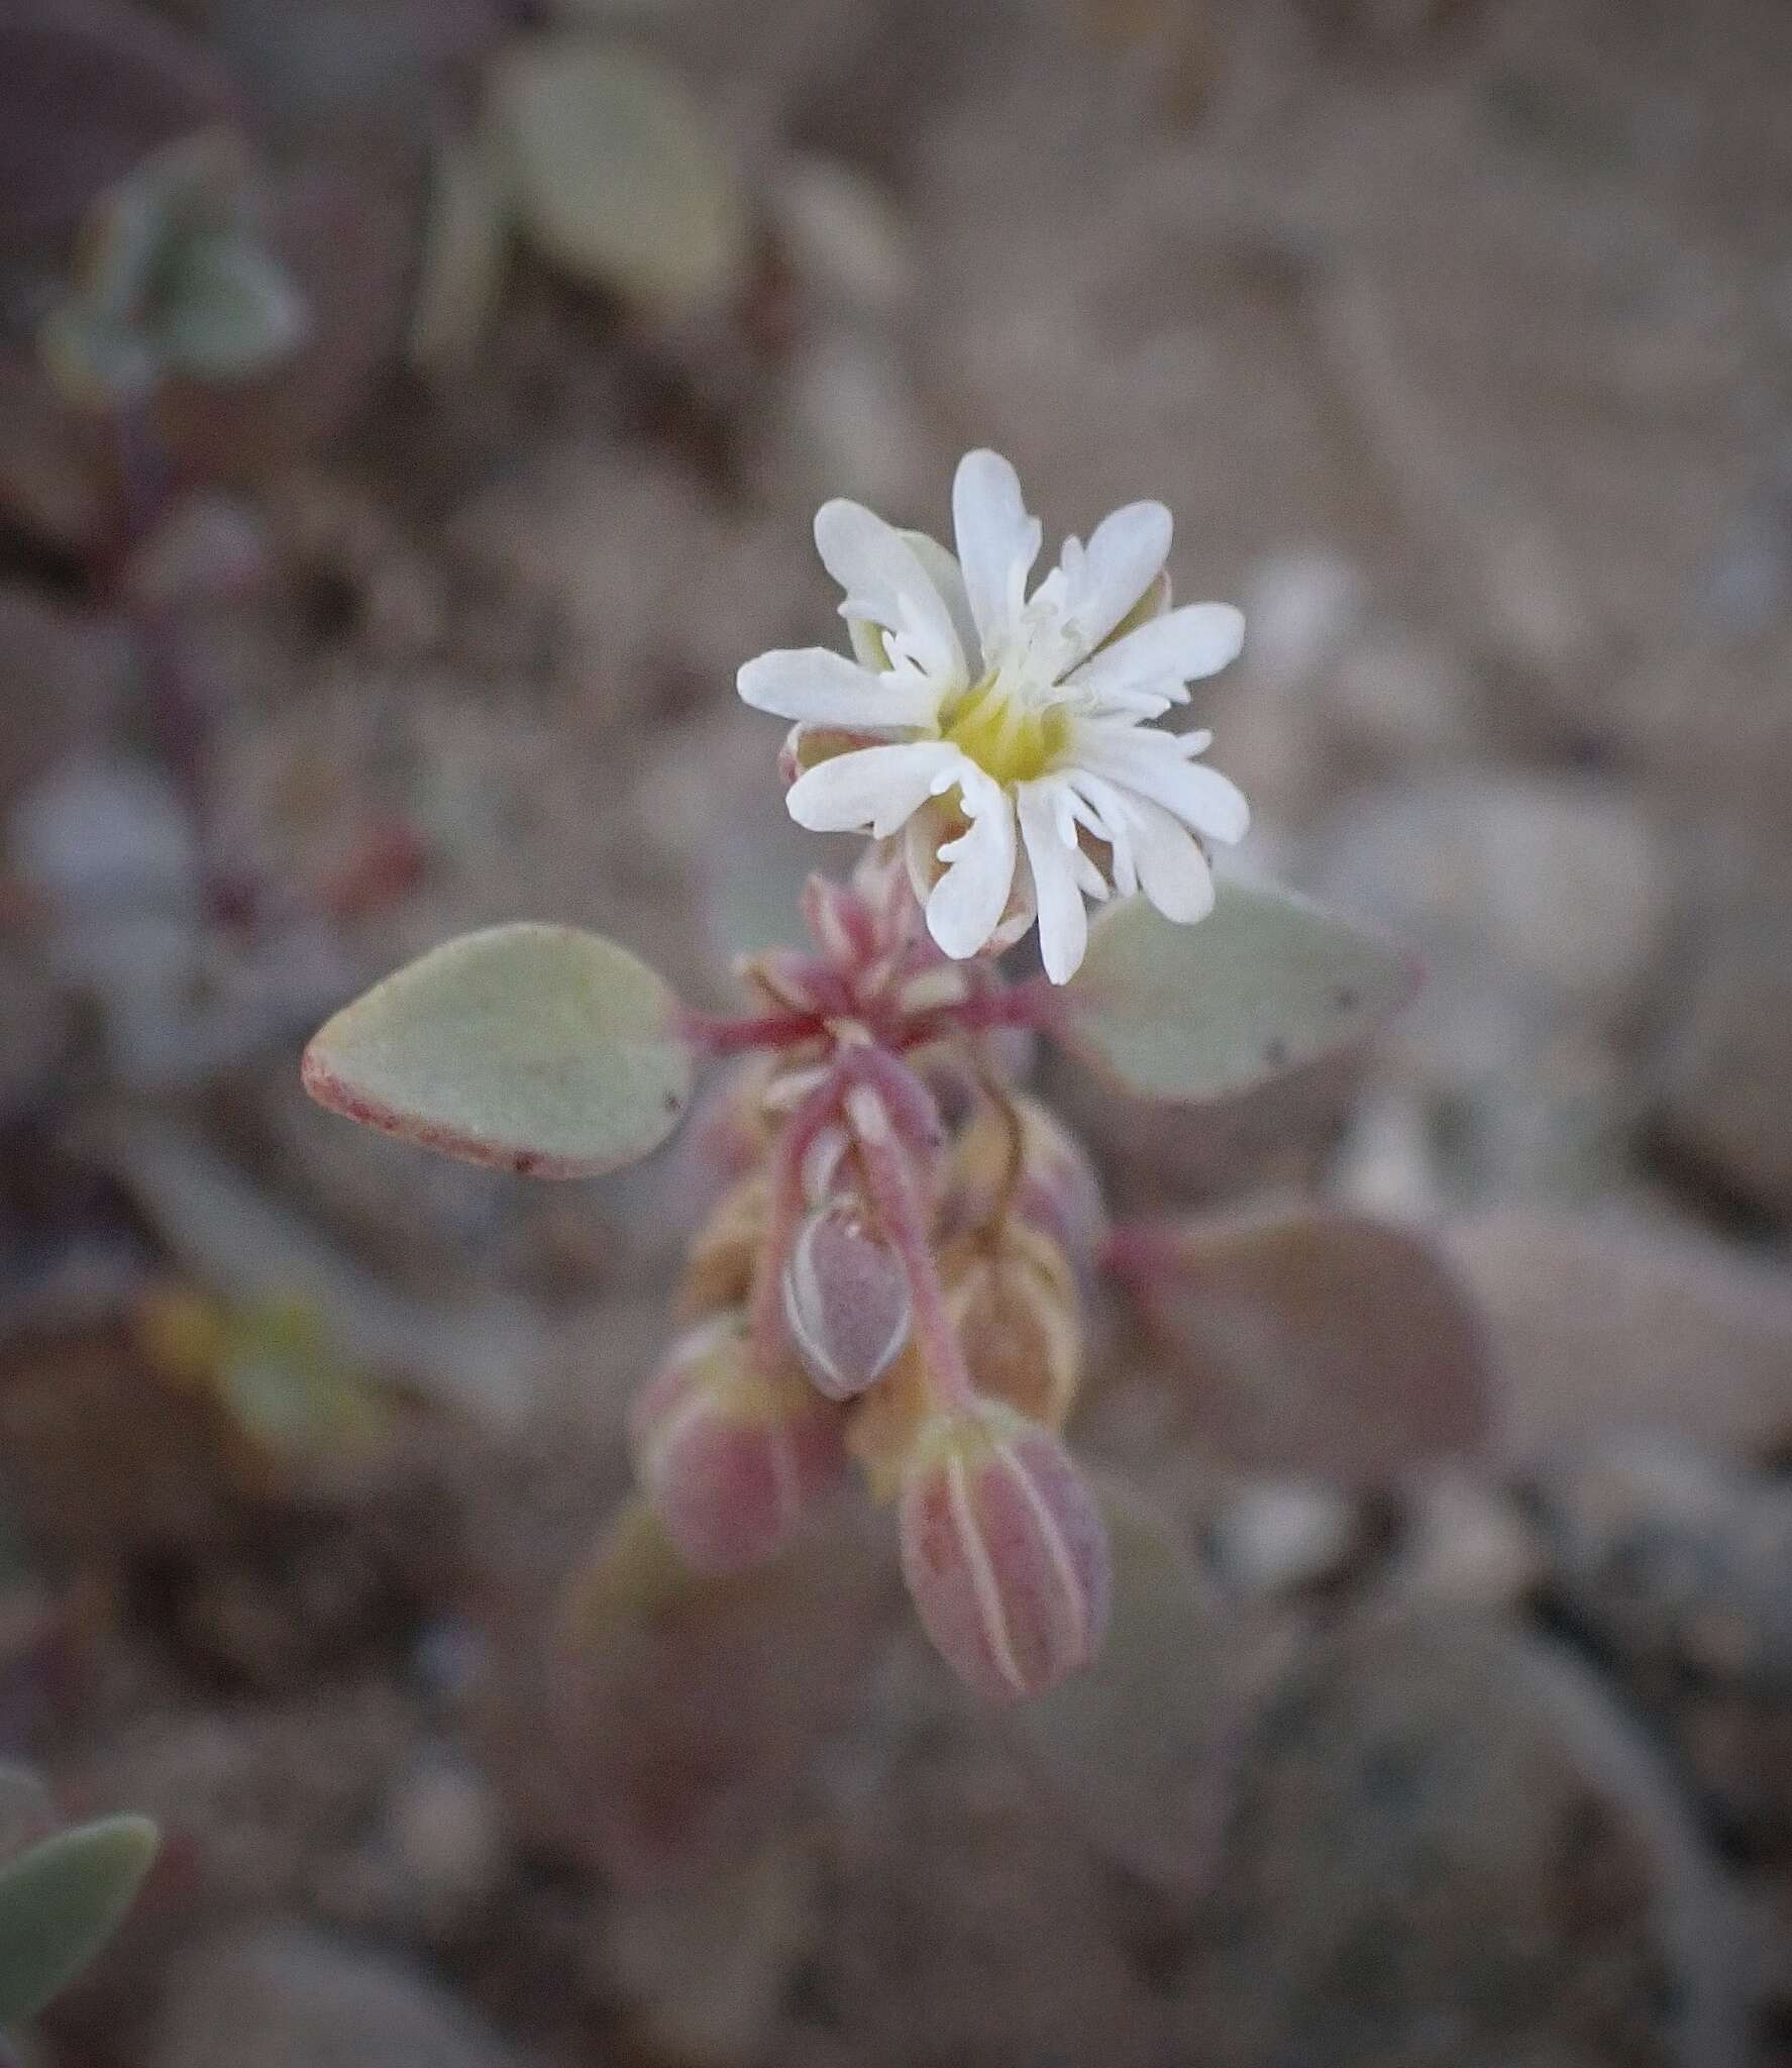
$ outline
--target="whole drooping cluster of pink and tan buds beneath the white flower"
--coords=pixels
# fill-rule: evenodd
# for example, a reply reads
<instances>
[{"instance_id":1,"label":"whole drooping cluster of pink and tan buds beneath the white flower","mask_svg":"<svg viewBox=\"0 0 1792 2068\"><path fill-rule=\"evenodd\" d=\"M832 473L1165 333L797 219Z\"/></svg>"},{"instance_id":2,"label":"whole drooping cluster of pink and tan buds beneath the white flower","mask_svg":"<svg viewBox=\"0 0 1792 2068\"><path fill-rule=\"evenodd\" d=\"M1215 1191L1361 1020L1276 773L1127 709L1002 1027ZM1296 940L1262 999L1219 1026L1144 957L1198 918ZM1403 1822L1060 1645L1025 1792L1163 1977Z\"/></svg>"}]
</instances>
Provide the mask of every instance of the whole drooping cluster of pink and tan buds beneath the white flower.
<instances>
[{"instance_id":1,"label":"whole drooping cluster of pink and tan buds beneath the white flower","mask_svg":"<svg viewBox=\"0 0 1792 2068\"><path fill-rule=\"evenodd\" d=\"M852 885L812 879L804 918L814 951L744 970L763 1013L707 1030L759 1055L711 1135L728 1185L635 1404L637 1470L680 1553L728 1572L856 1462L947 1661L994 1700L1040 1694L1108 1609L1102 1516L1058 1439L1095 1179L1013 1086L1013 993L940 955L899 866L872 850Z\"/></svg>"}]
</instances>

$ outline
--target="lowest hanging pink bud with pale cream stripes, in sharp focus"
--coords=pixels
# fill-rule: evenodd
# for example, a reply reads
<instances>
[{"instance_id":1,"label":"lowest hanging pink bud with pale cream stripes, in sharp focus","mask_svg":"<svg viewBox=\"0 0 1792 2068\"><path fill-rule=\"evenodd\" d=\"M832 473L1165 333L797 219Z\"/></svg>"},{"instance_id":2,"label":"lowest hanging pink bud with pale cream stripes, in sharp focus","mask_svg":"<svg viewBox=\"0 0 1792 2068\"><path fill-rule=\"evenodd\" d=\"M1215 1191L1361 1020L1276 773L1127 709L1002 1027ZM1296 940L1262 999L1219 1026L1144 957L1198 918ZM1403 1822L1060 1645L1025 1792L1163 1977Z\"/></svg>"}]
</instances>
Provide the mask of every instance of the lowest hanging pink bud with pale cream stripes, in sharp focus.
<instances>
[{"instance_id":1,"label":"lowest hanging pink bud with pale cream stripes, in sharp focus","mask_svg":"<svg viewBox=\"0 0 1792 2068\"><path fill-rule=\"evenodd\" d=\"M920 1619L978 1694L1044 1694L1102 1648L1108 1530L1069 1452L1038 1423L998 1402L938 1415L897 1514Z\"/></svg>"}]
</instances>

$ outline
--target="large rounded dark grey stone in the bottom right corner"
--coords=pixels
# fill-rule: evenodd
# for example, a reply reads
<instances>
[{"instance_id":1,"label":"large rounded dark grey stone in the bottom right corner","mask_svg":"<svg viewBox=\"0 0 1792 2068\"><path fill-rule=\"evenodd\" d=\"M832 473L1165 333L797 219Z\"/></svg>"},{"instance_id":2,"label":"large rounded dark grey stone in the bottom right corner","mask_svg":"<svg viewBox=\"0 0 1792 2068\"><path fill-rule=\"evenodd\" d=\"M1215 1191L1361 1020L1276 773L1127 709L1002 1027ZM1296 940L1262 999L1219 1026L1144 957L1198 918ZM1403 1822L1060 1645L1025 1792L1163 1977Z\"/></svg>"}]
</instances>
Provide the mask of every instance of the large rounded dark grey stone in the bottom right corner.
<instances>
[{"instance_id":1,"label":"large rounded dark grey stone in the bottom right corner","mask_svg":"<svg viewBox=\"0 0 1792 2068\"><path fill-rule=\"evenodd\" d=\"M1457 1605L1362 1617L1246 1752L1186 1983L1215 2068L1734 2068L1734 1911L1565 1654Z\"/></svg>"}]
</instances>

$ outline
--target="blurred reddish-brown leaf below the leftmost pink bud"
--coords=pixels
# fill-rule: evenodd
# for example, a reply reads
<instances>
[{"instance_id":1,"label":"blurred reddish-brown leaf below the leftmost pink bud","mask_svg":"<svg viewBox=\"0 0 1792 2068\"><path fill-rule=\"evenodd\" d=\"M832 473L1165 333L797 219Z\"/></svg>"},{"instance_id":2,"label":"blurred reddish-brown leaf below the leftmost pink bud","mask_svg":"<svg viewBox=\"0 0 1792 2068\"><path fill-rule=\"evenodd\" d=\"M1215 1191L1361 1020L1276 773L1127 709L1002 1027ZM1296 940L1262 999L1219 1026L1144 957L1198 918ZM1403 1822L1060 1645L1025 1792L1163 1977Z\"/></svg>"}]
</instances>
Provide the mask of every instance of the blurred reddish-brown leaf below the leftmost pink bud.
<instances>
[{"instance_id":1,"label":"blurred reddish-brown leaf below the leftmost pink bud","mask_svg":"<svg viewBox=\"0 0 1792 2068\"><path fill-rule=\"evenodd\" d=\"M575 1574L556 1735L606 1869L713 1872L775 1830L885 1640L893 1565L812 1534L773 1565L692 1574L645 1501Z\"/></svg>"}]
</instances>

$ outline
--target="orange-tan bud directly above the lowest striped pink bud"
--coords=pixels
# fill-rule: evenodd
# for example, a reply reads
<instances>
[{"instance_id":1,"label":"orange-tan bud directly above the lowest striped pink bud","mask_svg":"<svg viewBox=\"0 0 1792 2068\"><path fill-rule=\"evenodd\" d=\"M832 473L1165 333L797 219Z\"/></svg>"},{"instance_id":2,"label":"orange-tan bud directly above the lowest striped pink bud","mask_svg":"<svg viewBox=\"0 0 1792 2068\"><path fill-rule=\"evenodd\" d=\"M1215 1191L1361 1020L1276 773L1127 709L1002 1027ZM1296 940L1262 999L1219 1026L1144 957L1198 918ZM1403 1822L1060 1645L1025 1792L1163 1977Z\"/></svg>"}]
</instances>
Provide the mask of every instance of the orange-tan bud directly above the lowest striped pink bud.
<instances>
[{"instance_id":1,"label":"orange-tan bud directly above the lowest striped pink bud","mask_svg":"<svg viewBox=\"0 0 1792 2068\"><path fill-rule=\"evenodd\" d=\"M945 1259L947 1309L980 1394L1062 1429L1083 1379L1083 1315L1064 1251L1019 1220Z\"/></svg>"}]
</instances>

